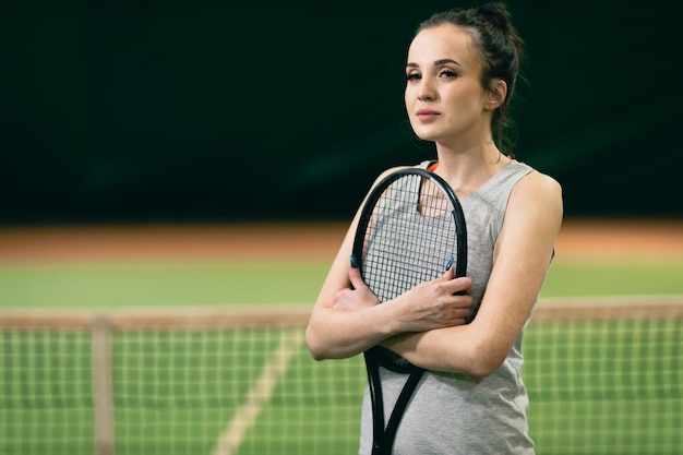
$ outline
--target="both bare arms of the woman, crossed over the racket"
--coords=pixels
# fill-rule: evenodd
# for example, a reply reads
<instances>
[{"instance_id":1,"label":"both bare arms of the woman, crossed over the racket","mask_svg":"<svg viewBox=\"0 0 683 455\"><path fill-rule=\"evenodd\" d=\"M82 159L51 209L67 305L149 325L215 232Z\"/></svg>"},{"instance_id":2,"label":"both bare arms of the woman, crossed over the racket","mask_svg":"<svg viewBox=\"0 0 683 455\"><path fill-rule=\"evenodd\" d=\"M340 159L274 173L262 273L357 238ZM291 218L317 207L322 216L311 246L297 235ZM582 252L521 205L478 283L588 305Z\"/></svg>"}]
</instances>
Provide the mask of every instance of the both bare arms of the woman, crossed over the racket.
<instances>
[{"instance_id":1,"label":"both bare arms of the woman, crossed over the racket","mask_svg":"<svg viewBox=\"0 0 683 455\"><path fill-rule=\"evenodd\" d=\"M517 183L498 238L477 318L465 325L471 280L442 277L379 304L350 265L358 215L322 286L307 343L316 360L346 358L381 344L411 363L486 376L505 360L550 265L562 221L560 185L532 172ZM465 291L465 295L455 295Z\"/></svg>"}]
</instances>

